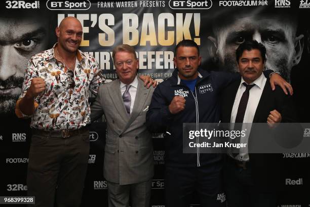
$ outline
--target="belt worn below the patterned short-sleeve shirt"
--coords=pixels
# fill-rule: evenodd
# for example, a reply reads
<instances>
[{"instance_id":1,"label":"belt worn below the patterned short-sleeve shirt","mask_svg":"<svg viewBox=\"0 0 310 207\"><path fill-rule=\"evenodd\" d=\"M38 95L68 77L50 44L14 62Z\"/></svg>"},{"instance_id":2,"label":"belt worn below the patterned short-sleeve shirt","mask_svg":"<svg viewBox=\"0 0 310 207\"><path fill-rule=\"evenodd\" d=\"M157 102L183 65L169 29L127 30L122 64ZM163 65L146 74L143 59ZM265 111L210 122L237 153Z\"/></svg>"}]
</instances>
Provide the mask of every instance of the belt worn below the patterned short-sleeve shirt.
<instances>
[{"instance_id":1,"label":"belt worn below the patterned short-sleeve shirt","mask_svg":"<svg viewBox=\"0 0 310 207\"><path fill-rule=\"evenodd\" d=\"M32 129L32 134L40 134L40 135L47 135L53 137L63 137L68 138L70 136L74 136L80 133L84 133L89 130L88 126L82 127L80 129L73 129L73 130L57 130L57 131L46 131L42 129Z\"/></svg>"}]
</instances>

